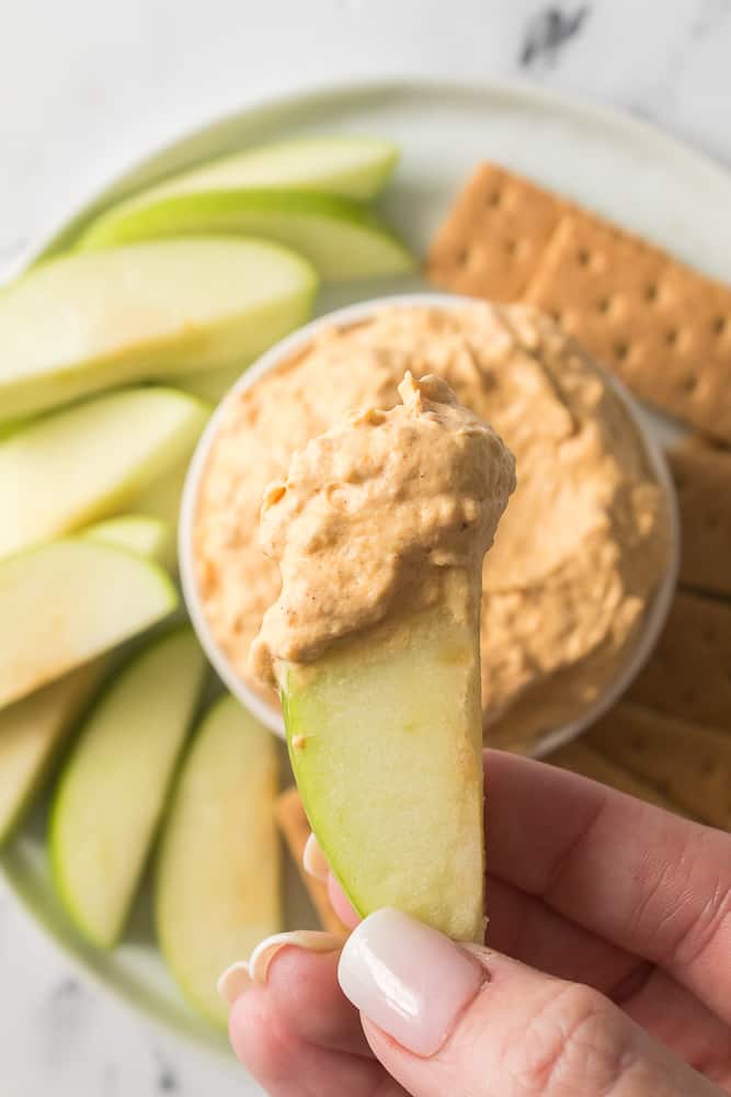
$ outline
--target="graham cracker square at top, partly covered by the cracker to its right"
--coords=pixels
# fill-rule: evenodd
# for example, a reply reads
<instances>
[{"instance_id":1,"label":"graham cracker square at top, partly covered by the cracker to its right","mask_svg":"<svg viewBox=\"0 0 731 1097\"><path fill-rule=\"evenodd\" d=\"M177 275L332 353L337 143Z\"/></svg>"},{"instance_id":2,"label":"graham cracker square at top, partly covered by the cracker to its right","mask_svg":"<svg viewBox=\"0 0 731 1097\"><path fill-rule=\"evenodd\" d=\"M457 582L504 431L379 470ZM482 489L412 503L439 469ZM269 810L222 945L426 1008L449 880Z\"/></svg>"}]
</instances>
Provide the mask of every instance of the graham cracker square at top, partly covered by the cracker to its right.
<instances>
[{"instance_id":1,"label":"graham cracker square at top, partly covered by the cracker to its right","mask_svg":"<svg viewBox=\"0 0 731 1097\"><path fill-rule=\"evenodd\" d=\"M495 163L481 163L426 260L437 285L490 301L523 296L568 203Z\"/></svg>"}]
</instances>

